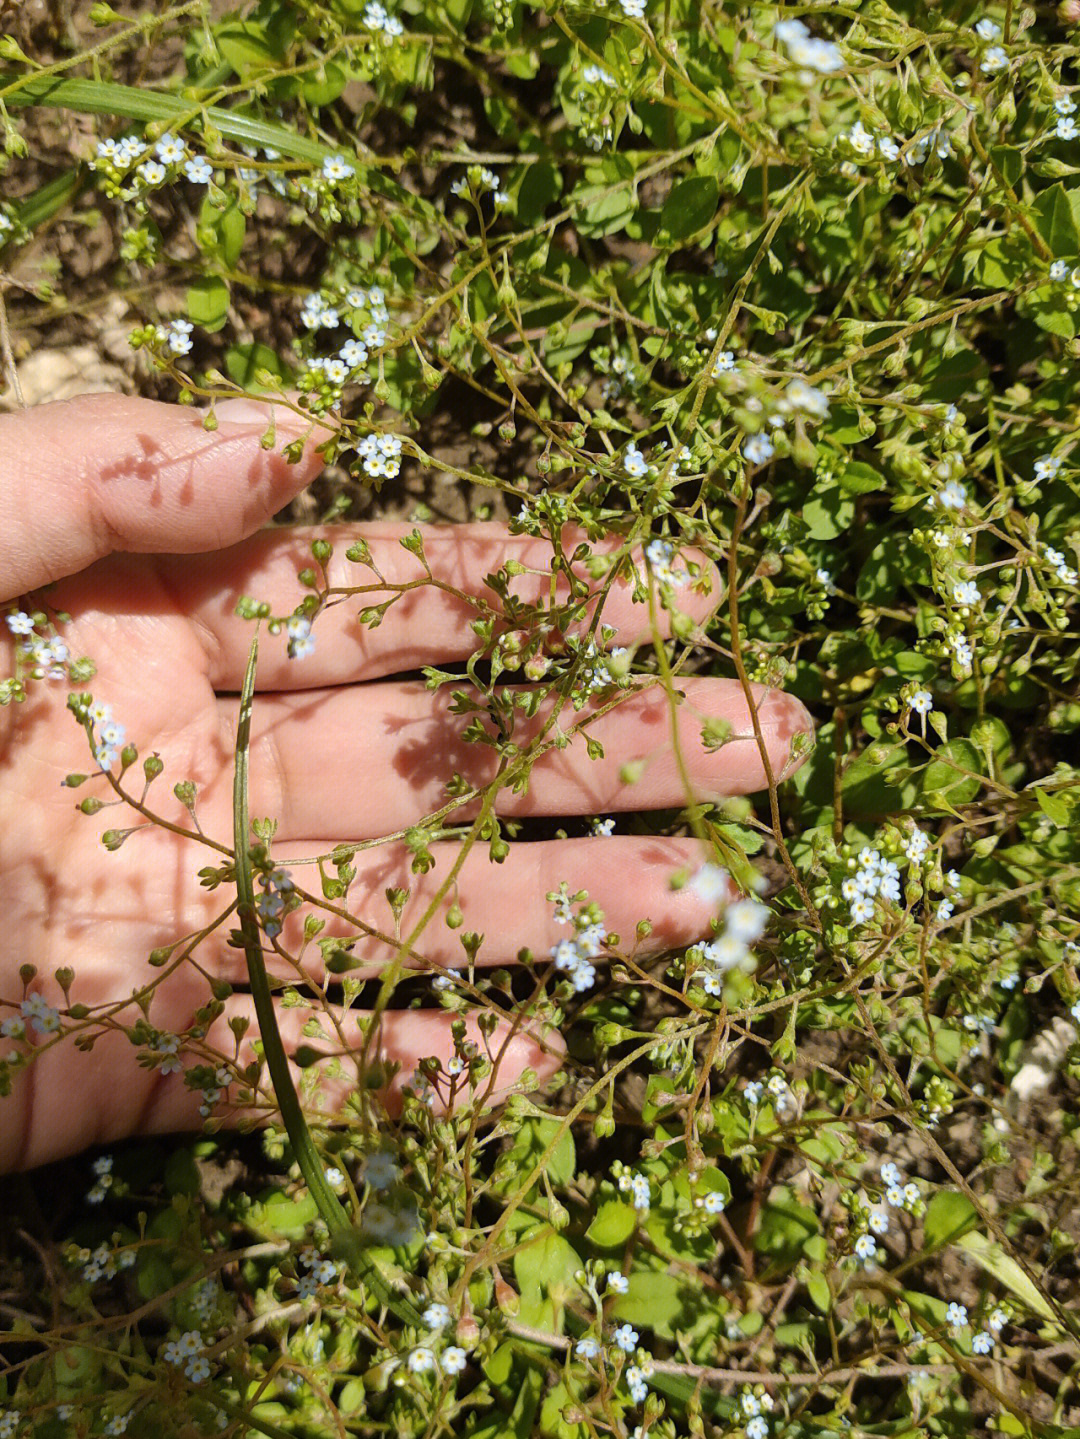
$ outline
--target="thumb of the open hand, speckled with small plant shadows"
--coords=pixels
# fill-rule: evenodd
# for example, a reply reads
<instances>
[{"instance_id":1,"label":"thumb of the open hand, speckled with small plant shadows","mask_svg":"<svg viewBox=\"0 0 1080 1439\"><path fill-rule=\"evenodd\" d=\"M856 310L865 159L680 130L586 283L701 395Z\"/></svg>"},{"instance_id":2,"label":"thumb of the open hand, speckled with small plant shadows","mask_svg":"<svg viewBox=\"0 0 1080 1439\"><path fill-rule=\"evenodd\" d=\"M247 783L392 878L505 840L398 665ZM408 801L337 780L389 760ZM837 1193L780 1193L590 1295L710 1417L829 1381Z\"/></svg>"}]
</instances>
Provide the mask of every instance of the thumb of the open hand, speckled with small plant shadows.
<instances>
[{"instance_id":1,"label":"thumb of the open hand, speckled with small plant shadows","mask_svg":"<svg viewBox=\"0 0 1080 1439\"><path fill-rule=\"evenodd\" d=\"M0 600L115 551L191 554L259 530L324 468L331 430L272 401L204 413L83 394L0 416ZM273 419L273 449L260 439ZM282 449L306 437L296 465Z\"/></svg>"}]
</instances>

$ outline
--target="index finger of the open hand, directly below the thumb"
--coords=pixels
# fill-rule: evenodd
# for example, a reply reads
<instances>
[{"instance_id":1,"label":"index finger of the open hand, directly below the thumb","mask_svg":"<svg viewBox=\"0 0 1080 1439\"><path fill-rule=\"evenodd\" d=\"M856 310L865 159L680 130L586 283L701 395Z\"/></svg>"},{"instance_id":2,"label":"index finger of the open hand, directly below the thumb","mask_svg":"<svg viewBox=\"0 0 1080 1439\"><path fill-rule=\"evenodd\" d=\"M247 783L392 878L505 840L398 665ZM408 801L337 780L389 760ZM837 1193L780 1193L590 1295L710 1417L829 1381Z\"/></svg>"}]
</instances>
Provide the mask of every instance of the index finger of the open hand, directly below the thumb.
<instances>
[{"instance_id":1,"label":"index finger of the open hand, directly below the thumb","mask_svg":"<svg viewBox=\"0 0 1080 1439\"><path fill-rule=\"evenodd\" d=\"M403 537L414 530L423 538L431 580L427 580L421 561L401 545ZM288 658L283 639L263 646L259 662L262 691L311 689L377 679L406 673L421 665L467 659L480 643L470 627L472 622L490 609L502 612L506 603L485 580L508 560L516 560L526 568L525 574L511 580L509 594L513 600L526 607L548 603L551 597L551 541L513 535L498 521L456 525L377 521L270 530L214 555L155 557L152 563L158 574L174 602L191 617L207 648L210 679L219 692L237 691L247 663L252 630L236 619L237 600L242 594L252 596L266 600L275 614L289 614L306 593L296 577L301 570L312 567L311 545L316 538L334 545L328 563L332 587L372 589L326 606L312 630L315 649L302 661ZM361 540L367 543L385 584L371 568L347 558L349 545ZM564 525L565 553L572 554L581 540L585 540L584 530ZM621 537L611 534L590 548L595 554L604 554L621 544ZM631 551L631 558L644 576L640 545ZM687 563L699 567L697 580L700 589L708 584L708 593L699 591ZM588 584L592 597L584 604L581 619L574 620L571 633L587 633L607 578L592 580L584 561L574 564L572 570ZM676 574L689 581L676 589L676 604L695 625L700 625L716 609L719 570L702 551L687 547L682 551ZM393 586L414 587L395 591ZM614 643L618 645L646 643L651 636L649 606L634 603L633 589L633 584L620 577L604 597L601 622L615 629ZM398 597L377 627L361 625L361 610L390 600L395 593ZM486 600L489 609L462 599L462 594L476 597L477 602ZM569 583L564 573L558 573L555 600L562 604L568 599ZM672 617L666 610L659 612L659 626L662 635L670 635ZM515 626L499 622L495 632L500 633L508 627Z\"/></svg>"}]
</instances>

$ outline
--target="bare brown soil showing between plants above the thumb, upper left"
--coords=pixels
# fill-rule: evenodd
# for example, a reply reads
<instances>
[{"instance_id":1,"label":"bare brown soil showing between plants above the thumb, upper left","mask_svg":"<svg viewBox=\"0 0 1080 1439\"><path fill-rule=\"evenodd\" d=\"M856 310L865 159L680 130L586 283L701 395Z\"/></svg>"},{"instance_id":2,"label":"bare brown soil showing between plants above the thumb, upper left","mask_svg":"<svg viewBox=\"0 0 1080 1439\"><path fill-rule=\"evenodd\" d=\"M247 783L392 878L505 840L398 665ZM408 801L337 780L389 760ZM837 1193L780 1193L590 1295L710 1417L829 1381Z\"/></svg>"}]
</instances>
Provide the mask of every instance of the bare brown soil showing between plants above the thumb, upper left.
<instances>
[{"instance_id":1,"label":"bare brown soil showing between plants above the thumb, upper left","mask_svg":"<svg viewBox=\"0 0 1080 1439\"><path fill-rule=\"evenodd\" d=\"M0 0L0 33L13 35L39 63L52 63L99 40L101 32L88 19L91 3L19 0L12 7L10 0ZM250 0L213 0L211 13L243 14L250 7ZM165 4L157 0L157 6L139 9L160 13ZM183 37L173 35L154 46L132 47L118 59L114 78L127 85L164 82L183 71L181 46ZM115 128L109 117L47 106L23 109L19 118L29 154L12 160L7 170L0 171L0 197L6 200L20 200L70 171L73 164L85 164L98 141ZM190 258L191 240L186 232L191 223L193 217L181 217L167 235L167 253L171 245L174 258ZM173 292L160 282L148 285L121 259L122 227L119 207L89 186L83 187L72 204L17 252L9 272L0 269L0 327L6 322L7 330L7 345L0 332L0 413L109 390L175 399L173 381L131 348L128 335L158 314L183 314L184 292ZM298 232L295 249L267 256L262 268L267 273L272 269L275 276L306 276L315 263L318 256L308 237ZM46 299L43 285L50 292ZM260 340L286 345L295 330L295 307L283 304L280 312L273 314L272 304L267 301L267 309L259 314L237 308L232 317L234 337L240 341L255 338L255 324ZM475 396L465 386L450 383L444 391L424 435L427 448L460 469L505 468L505 449L496 450L493 440L472 433L477 420L498 416L477 410ZM342 471L328 471L293 504L289 518L318 518L344 484ZM509 514L499 491L433 478L416 466L406 466L401 476L387 482L378 494L355 485L348 488L351 505L345 518L456 522Z\"/></svg>"}]
</instances>

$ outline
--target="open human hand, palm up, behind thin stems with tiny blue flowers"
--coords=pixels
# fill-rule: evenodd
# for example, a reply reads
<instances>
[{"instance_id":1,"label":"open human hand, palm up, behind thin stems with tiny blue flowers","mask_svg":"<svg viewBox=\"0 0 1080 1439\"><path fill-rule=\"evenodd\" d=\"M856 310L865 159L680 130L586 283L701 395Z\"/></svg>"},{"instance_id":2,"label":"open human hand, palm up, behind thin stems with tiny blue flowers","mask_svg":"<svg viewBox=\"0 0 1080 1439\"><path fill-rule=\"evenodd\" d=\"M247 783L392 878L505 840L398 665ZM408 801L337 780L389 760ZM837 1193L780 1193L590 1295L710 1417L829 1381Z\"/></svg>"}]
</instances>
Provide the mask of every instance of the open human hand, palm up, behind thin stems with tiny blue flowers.
<instances>
[{"instance_id":1,"label":"open human hand, palm up, behind thin stems with tiny blue flowers","mask_svg":"<svg viewBox=\"0 0 1080 1439\"><path fill-rule=\"evenodd\" d=\"M85 688L111 707L115 722L127 731L124 743L138 745L139 763L128 771L127 791L138 797L141 761L160 754L164 774L150 790L148 807L190 830L191 817L174 799L173 784L191 780L203 833L232 849L236 696L252 640L250 623L234 614L240 596L269 600L275 614L290 613L302 594L298 571L311 564L311 541L319 532L335 545L332 584L371 583L371 571L345 560L348 544L360 537L368 541L387 580L416 580L423 570L398 541L420 528L436 580L479 594L483 577L515 557L542 571L526 573L513 586L515 594L535 602L549 589L551 545L511 535L493 522L370 522L256 532L319 472L315 446L325 436L316 430L301 462L289 466L279 450L306 435L309 422L278 406L276 450L265 452L259 440L266 430L266 406L249 407L246 419L229 410L219 407L214 433L203 429L198 412L112 394L0 417L0 504L6 515L0 602L10 602L7 613L46 609L70 614L58 633L70 658L86 655L96 663ZM557 593L565 599L564 580ZM702 620L715 607L715 586L712 597L683 591L680 604ZM372 630L357 620L367 603L365 596L360 603L328 607L314 632L315 649L305 659L289 659L283 637L262 645L252 720L252 813L280 820L273 840L280 863L299 865L341 842L404 830L446 803L443 786L453 770L476 786L495 777L495 751L462 740L473 717L449 714L446 691L430 691L421 681L380 678L467 659L477 646L469 627L475 610L444 590L423 586L395 602ZM627 586L613 586L603 619L617 627L614 643L647 640L644 610L631 603ZM666 613L662 627L669 632ZM13 673L14 648L22 640L7 625L0 629L0 662ZM741 686L687 678L680 679L680 689L686 694L679 711L680 743L699 796L761 789L765 770ZM792 738L810 732L810 717L798 701L777 691L754 686L754 692L771 768L775 777L785 777L795 767ZM78 812L79 796L63 787L63 778L92 770L93 761L66 698L63 679L46 678L27 686L24 702L0 709L0 892L6 899L0 1027L7 1033L0 1040L0 1061L22 1045L46 1046L27 1069L13 1073L10 1095L0 1098L0 1171L29 1168L95 1143L201 1122L201 1091L186 1086L171 1062L141 1066L122 1030L101 1033L86 1053L50 1030L55 1019L49 1007L62 1016L60 1027L69 1027L68 1002L53 977L58 968L75 971L72 1004L92 1010L108 1006L119 1014L127 1003L119 1017L128 1025L135 1013L132 991L158 981L150 1022L163 1035L191 1027L193 1016L209 1000L209 977L236 986L246 980L242 953L226 943L229 921L194 951L197 963L187 960L171 971L148 967L152 950L196 934L223 912L224 891L211 892L197 878L200 868L221 863L223 856L160 826L132 835L115 853L106 852L101 842L106 829L141 820L122 807L92 817ZM587 705L582 715L567 708L564 725L580 722L590 708L595 707ZM536 720L523 725L522 744L549 709L551 702L545 702ZM709 753L700 740L705 715L728 720L742 738ZM659 688L620 702L588 732L601 740L604 758L590 761L581 738L562 751L552 750L536 761L523 793L500 791L496 812L521 817L685 803L667 701ZM649 763L630 787L620 781L620 767L636 757ZM114 797L101 774L82 793ZM462 823L477 810L479 803L470 802L447 823ZM401 918L401 934L407 935L459 848L457 840L433 843L436 865L426 875L410 872L411 853L403 842L358 850L352 861L357 878L342 904L383 934L390 931L390 940L385 889L407 888L411 894ZM571 889L588 889L608 931L631 935L636 922L649 917L653 931L637 951L649 954L708 934L715 905L689 886L677 892L669 888L676 869L696 868L700 859L700 846L690 839L598 836L512 843L505 862L492 869L486 846L477 845L457 876L456 898L465 927L485 935L477 964L512 963L526 945L542 954L564 938L567 931L559 931L545 899L562 879ZM309 873L318 876L316 869L298 868L298 882ZM306 888L319 889L318 882ZM298 953L302 932L303 911L288 915L282 947ZM322 931L324 937L357 932L355 924L335 917ZM378 973L397 948L364 934L352 953L364 966L354 973ZM424 931L420 953L436 966L465 958L459 934L441 915ZM312 957L309 945L305 970L318 983L324 974L316 960L318 950ZM46 1009L43 1023L35 1025L33 1014L24 1019L20 1036L12 1020L19 1019L27 993L20 977L24 964L36 968L29 989L42 996ZM269 947L267 964L272 974L296 980L295 968ZM355 1036L355 1010L351 1016ZM250 994L237 990L226 999L206 1045L234 1052L229 1022L239 1017L252 1020L240 1046L239 1062L244 1063L255 1033ZM290 1052L303 1043L308 1019L306 1009L279 1009ZM381 1016L380 1056L401 1066L390 1082L390 1102L413 1076L420 1056L446 1063L453 1055L450 1019L441 1010ZM496 1062L495 1095L525 1066L546 1078L559 1063L558 1036L544 1040L509 1020L485 1040L470 1019L469 1038L486 1045ZM341 1098L345 1081L337 1085ZM223 1097L214 1112L230 1117L236 1111Z\"/></svg>"}]
</instances>

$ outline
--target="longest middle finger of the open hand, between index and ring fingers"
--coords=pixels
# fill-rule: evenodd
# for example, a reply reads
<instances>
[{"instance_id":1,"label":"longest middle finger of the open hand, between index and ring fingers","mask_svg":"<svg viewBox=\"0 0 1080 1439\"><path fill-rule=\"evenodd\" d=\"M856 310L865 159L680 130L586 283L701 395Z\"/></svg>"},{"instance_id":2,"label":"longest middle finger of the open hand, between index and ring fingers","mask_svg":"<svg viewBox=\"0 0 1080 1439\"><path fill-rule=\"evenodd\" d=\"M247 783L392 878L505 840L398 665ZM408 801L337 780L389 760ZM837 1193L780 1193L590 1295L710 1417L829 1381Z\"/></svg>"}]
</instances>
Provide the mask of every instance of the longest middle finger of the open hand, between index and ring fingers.
<instances>
[{"instance_id":1,"label":"longest middle finger of the open hand, between index and ring fingers","mask_svg":"<svg viewBox=\"0 0 1080 1439\"><path fill-rule=\"evenodd\" d=\"M568 737L534 764L528 787L502 789L496 813L597 814L608 810L667 809L692 800L749 794L768 783L754 717L738 681L687 676L677 686L685 699L674 711L674 728L695 794L687 796L672 744L672 717L660 685L636 685L608 714L594 718L587 734L603 745L590 760L582 734L572 728L598 708L590 699L581 712L564 704L555 725ZM778 689L751 685L756 718L775 780L795 768L794 741L810 735L813 721L798 699ZM528 686L506 686L525 694ZM541 701L534 718L518 715L513 741L525 750L557 704ZM483 789L498 774L499 754L482 741L466 741L465 728L479 720L489 735L489 715L454 715L444 691L416 682L378 682L299 694L257 695L252 717L250 793L256 813L279 819L278 839L348 835L374 839L414 825L447 803L446 781L460 774ZM706 718L729 725L719 748L702 737ZM223 745L236 732L236 707L219 701ZM627 783L623 767L643 761L640 776ZM207 796L223 810L232 807L232 780L223 774L220 793ZM479 802L462 804L452 822L472 819ZM224 817L224 816L223 816Z\"/></svg>"}]
</instances>

